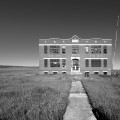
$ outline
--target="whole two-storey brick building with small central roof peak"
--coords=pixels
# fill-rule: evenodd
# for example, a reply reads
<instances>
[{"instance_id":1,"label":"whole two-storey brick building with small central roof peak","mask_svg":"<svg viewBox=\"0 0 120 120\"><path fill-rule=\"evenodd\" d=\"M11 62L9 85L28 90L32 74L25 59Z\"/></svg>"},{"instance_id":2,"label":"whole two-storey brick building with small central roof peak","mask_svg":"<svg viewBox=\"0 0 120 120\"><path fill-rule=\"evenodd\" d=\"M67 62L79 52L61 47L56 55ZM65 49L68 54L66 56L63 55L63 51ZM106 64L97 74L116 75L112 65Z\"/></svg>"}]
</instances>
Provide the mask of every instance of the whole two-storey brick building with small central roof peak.
<instances>
[{"instance_id":1,"label":"whole two-storey brick building with small central roof peak","mask_svg":"<svg viewBox=\"0 0 120 120\"><path fill-rule=\"evenodd\" d=\"M39 39L40 74L111 74L112 40Z\"/></svg>"}]
</instances>

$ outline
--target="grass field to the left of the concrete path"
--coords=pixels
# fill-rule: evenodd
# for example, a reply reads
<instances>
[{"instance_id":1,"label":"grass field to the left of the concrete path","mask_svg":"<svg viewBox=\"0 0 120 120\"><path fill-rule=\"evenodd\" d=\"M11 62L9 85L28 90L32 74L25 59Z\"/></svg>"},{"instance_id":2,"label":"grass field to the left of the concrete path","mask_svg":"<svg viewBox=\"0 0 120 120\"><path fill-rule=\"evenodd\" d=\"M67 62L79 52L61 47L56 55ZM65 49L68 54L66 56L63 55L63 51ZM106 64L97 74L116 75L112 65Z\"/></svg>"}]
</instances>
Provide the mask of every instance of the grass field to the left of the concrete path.
<instances>
[{"instance_id":1,"label":"grass field to the left of the concrete path","mask_svg":"<svg viewBox=\"0 0 120 120\"><path fill-rule=\"evenodd\" d=\"M69 76L38 75L37 68L0 68L0 120L62 120Z\"/></svg>"}]
</instances>

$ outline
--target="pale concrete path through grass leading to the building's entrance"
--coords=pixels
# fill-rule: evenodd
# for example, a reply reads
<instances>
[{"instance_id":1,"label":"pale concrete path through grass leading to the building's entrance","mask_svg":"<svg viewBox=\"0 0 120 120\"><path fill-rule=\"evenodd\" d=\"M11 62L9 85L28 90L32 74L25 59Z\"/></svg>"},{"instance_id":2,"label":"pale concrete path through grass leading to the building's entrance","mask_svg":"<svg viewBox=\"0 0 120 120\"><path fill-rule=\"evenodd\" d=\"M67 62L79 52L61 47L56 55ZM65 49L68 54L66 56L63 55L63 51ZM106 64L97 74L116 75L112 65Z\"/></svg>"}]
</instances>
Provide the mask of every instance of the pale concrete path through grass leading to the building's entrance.
<instances>
[{"instance_id":1,"label":"pale concrete path through grass leading to the building's entrance","mask_svg":"<svg viewBox=\"0 0 120 120\"><path fill-rule=\"evenodd\" d=\"M81 81L75 76L69 95L69 105L64 120L96 120Z\"/></svg>"}]
</instances>

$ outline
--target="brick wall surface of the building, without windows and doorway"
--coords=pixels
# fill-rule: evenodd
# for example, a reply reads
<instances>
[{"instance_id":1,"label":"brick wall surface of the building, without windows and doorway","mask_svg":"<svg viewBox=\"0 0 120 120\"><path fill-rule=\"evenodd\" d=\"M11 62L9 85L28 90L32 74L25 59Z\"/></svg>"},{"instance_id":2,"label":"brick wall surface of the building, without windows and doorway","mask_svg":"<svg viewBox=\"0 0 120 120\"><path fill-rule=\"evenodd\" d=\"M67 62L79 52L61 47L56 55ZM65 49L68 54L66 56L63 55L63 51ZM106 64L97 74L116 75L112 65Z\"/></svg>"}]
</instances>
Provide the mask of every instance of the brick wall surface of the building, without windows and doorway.
<instances>
[{"instance_id":1,"label":"brick wall surface of the building, without windows and doorway","mask_svg":"<svg viewBox=\"0 0 120 120\"><path fill-rule=\"evenodd\" d=\"M57 39L56 42L54 40L48 40L47 43L46 40L40 40L40 44L71 44L71 40L64 40L63 43L62 40ZM87 40L81 40L80 44L85 44ZM105 44L111 44L111 40L106 40ZM104 44L104 40L97 41L97 44ZM89 44L95 44L95 40L89 41ZM77 44L76 44L77 45ZM93 73L93 71L99 71L100 74L103 73L103 71L108 71L109 74L111 74L111 69L113 67L112 65L112 46L107 46L107 54L103 54L103 45L102 45L102 53L101 54L91 54L91 46L89 46L89 53L85 53L85 45L79 46L79 54L71 54L72 53L72 45L66 45L66 54L62 54L62 45L60 45L60 54L52 55L49 53L49 45L48 45L48 54L44 54L44 46L39 46L39 70L41 73L43 71L58 71L61 73L61 71L66 71L68 73L71 72L71 57L80 57L80 71L90 71ZM50 67L50 60L48 59L48 67L44 67L44 59L43 58L66 58L66 68L62 68L62 60L60 60L60 67ZM108 63L107 67L103 67L103 60L102 60L102 67L91 67L91 60L89 60L89 67L85 67L85 58L107 58Z\"/></svg>"}]
</instances>

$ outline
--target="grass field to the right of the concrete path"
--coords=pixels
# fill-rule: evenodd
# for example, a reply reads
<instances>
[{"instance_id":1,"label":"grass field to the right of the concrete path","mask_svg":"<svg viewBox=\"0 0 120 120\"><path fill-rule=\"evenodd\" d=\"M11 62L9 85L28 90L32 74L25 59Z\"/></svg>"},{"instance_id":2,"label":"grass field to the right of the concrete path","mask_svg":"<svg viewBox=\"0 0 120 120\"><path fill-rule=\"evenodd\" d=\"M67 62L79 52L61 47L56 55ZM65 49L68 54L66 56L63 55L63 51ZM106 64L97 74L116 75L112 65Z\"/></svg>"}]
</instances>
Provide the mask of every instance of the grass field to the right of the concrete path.
<instances>
[{"instance_id":1,"label":"grass field to the right of the concrete path","mask_svg":"<svg viewBox=\"0 0 120 120\"><path fill-rule=\"evenodd\" d=\"M98 120L120 120L119 77L93 75L82 84Z\"/></svg>"}]
</instances>

